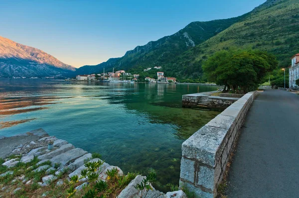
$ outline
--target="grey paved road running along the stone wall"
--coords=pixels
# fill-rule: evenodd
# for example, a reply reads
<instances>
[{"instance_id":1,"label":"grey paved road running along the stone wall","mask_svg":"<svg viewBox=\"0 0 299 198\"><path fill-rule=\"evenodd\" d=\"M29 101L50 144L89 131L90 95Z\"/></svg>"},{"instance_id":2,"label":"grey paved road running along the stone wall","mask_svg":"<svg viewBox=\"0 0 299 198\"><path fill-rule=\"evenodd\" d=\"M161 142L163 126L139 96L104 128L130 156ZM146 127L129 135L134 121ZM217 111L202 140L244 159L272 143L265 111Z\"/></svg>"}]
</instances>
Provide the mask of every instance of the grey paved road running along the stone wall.
<instances>
[{"instance_id":1,"label":"grey paved road running along the stone wall","mask_svg":"<svg viewBox=\"0 0 299 198\"><path fill-rule=\"evenodd\" d=\"M299 198L299 95L265 90L253 102L228 176L228 198Z\"/></svg>"}]
</instances>

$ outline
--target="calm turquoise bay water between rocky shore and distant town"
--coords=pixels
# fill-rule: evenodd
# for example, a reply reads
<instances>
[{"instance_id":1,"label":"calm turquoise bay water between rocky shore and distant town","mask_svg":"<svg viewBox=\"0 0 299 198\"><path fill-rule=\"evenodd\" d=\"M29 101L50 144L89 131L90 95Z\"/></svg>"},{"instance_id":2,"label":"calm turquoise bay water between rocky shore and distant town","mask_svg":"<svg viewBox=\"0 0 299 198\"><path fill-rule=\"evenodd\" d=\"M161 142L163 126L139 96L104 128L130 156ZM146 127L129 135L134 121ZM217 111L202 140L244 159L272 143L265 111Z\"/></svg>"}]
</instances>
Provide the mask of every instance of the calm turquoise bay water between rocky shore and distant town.
<instances>
[{"instance_id":1,"label":"calm turquoise bay water between rocky shore and distant town","mask_svg":"<svg viewBox=\"0 0 299 198\"><path fill-rule=\"evenodd\" d=\"M124 173L178 184L181 144L219 112L181 108L183 94L215 86L0 79L0 135L43 128L102 154Z\"/></svg>"}]
</instances>

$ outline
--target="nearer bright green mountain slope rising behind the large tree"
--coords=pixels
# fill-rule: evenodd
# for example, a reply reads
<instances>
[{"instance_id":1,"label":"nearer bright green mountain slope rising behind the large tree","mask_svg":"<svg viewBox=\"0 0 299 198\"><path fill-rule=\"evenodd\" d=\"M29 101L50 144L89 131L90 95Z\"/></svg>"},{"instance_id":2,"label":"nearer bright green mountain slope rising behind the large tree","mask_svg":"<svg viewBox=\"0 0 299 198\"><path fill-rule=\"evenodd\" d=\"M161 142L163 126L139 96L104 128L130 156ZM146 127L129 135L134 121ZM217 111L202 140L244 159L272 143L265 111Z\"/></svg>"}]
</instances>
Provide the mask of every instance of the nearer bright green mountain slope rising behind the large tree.
<instances>
[{"instance_id":1,"label":"nearer bright green mountain slope rising behind the large tree","mask_svg":"<svg viewBox=\"0 0 299 198\"><path fill-rule=\"evenodd\" d=\"M170 66L192 77L203 60L229 48L265 50L277 56L280 67L290 66L299 51L299 0L267 0L245 19L177 56Z\"/></svg>"}]
</instances>

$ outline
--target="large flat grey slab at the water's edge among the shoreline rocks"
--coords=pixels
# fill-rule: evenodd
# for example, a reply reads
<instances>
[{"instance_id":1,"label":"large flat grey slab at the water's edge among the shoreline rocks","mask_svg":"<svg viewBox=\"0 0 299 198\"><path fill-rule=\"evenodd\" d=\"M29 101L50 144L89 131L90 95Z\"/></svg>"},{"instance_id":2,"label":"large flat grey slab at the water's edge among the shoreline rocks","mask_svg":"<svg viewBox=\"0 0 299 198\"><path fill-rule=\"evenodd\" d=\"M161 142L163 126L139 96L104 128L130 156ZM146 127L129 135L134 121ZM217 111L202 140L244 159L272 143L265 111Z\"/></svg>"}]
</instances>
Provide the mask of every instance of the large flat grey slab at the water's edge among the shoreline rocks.
<instances>
[{"instance_id":1,"label":"large flat grey slab at the water's edge among the shoreline rocks","mask_svg":"<svg viewBox=\"0 0 299 198\"><path fill-rule=\"evenodd\" d=\"M61 148L63 146L61 146ZM84 151L83 149L77 148L77 149L69 150L60 155L57 155L57 156L53 157L52 159L50 159L50 161L52 162L52 166L54 166L55 163L60 163L60 165L65 166L70 162L74 162L77 158L80 158L81 156L83 156L85 154L87 154L86 151Z\"/></svg>"}]
</instances>

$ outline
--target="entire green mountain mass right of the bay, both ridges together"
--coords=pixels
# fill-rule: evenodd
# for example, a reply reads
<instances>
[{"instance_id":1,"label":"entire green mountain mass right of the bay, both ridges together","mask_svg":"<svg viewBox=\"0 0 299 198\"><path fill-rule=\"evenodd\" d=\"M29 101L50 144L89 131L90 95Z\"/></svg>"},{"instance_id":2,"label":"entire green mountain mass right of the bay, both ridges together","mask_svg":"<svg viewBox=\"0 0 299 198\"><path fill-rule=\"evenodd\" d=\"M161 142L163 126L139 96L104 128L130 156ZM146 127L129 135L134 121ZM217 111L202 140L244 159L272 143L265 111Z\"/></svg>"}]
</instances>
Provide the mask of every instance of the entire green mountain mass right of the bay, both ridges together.
<instances>
[{"instance_id":1,"label":"entire green mountain mass right of the bay, both ridges together","mask_svg":"<svg viewBox=\"0 0 299 198\"><path fill-rule=\"evenodd\" d=\"M191 22L173 35L137 46L123 57L80 67L76 73L98 73L103 67L137 72L157 65L167 76L201 79L202 62L229 48L267 50L278 57L280 66L288 66L299 51L299 0L267 0L242 16Z\"/></svg>"}]
</instances>

